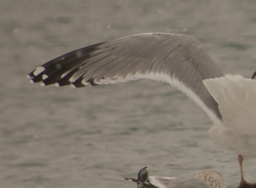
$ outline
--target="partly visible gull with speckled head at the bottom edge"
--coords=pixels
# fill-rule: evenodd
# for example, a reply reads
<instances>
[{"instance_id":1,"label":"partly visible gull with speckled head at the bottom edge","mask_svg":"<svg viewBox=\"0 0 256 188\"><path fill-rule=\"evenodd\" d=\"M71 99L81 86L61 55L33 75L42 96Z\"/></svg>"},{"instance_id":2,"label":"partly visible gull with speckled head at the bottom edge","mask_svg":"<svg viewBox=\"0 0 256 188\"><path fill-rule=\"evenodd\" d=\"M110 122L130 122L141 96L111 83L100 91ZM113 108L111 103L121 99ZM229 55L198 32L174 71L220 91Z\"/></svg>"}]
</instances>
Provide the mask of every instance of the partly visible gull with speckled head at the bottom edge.
<instances>
[{"instance_id":1,"label":"partly visible gull with speckled head at the bottom edge","mask_svg":"<svg viewBox=\"0 0 256 188\"><path fill-rule=\"evenodd\" d=\"M220 172L216 170L202 170L195 177L157 177L148 176L147 167L138 173L138 179L125 178L136 182L138 188L226 188Z\"/></svg>"}]
</instances>

